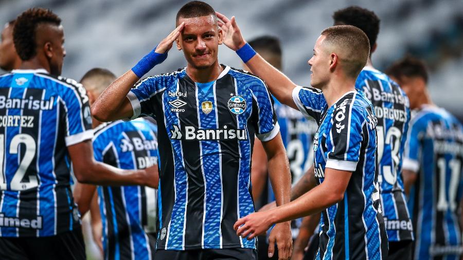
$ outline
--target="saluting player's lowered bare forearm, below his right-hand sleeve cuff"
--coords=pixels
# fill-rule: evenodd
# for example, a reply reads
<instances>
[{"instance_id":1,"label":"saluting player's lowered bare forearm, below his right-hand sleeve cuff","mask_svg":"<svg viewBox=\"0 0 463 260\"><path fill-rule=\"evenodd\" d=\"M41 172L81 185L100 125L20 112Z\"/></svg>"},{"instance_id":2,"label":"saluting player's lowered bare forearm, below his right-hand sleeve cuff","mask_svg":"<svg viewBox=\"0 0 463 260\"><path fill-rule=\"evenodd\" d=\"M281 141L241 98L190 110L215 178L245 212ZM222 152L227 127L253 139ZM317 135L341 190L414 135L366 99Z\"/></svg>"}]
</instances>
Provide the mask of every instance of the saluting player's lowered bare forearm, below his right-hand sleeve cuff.
<instances>
[{"instance_id":1,"label":"saluting player's lowered bare forearm, below his right-hand sleeve cuff","mask_svg":"<svg viewBox=\"0 0 463 260\"><path fill-rule=\"evenodd\" d=\"M284 150L275 153L268 160L269 177L275 194L276 205L280 206L290 201L291 173L288 157Z\"/></svg>"}]
</instances>

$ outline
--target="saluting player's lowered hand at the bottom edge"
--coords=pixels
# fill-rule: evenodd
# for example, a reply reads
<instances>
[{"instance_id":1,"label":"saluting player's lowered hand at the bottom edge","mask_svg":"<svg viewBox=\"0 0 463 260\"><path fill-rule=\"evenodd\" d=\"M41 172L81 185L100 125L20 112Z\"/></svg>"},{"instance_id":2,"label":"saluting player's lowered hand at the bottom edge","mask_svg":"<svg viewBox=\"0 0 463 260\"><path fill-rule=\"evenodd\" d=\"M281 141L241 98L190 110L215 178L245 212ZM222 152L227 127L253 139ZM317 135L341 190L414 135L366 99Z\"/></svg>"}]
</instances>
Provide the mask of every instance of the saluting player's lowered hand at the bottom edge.
<instances>
[{"instance_id":1,"label":"saluting player's lowered hand at the bottom edge","mask_svg":"<svg viewBox=\"0 0 463 260\"><path fill-rule=\"evenodd\" d=\"M269 236L269 258L275 252L275 243L278 247L278 259L288 260L293 252L293 237L290 222L276 224Z\"/></svg>"}]
</instances>

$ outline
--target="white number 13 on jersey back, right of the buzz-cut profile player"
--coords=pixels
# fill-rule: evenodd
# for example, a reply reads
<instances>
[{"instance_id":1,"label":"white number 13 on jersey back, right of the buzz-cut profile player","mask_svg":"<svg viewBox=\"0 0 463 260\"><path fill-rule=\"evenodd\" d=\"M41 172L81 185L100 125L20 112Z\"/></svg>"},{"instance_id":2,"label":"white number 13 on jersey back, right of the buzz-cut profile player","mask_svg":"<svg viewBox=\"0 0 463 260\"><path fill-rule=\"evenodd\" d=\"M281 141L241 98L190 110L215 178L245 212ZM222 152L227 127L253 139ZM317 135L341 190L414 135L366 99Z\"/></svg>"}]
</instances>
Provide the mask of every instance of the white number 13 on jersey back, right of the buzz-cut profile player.
<instances>
[{"instance_id":1,"label":"white number 13 on jersey back, right of the buzz-cut profile player","mask_svg":"<svg viewBox=\"0 0 463 260\"><path fill-rule=\"evenodd\" d=\"M382 182L384 178L387 183L393 185L397 181L397 166L399 165L400 158L399 158L399 149L400 149L400 137L402 133L400 132L399 128L395 126L391 126L385 138L384 137L384 127L383 126L376 126L376 131L378 133L378 163L381 162L384 153L384 145L390 145L390 159L393 162L393 167L389 165L383 165L382 167L382 176L379 175L379 182Z\"/></svg>"}]
</instances>

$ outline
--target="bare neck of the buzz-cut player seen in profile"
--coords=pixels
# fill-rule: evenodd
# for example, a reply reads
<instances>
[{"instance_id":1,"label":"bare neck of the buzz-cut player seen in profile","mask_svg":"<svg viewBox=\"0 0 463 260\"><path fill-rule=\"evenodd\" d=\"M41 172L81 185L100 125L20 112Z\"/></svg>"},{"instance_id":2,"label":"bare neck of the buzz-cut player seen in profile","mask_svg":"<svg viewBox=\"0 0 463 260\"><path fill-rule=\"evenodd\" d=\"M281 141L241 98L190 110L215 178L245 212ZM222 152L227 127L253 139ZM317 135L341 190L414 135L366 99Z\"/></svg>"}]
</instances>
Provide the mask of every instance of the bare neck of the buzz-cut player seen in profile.
<instances>
[{"instance_id":1,"label":"bare neck of the buzz-cut player seen in profile","mask_svg":"<svg viewBox=\"0 0 463 260\"><path fill-rule=\"evenodd\" d=\"M322 89L329 107L349 91L355 91L355 79L349 77L333 79Z\"/></svg>"}]
</instances>

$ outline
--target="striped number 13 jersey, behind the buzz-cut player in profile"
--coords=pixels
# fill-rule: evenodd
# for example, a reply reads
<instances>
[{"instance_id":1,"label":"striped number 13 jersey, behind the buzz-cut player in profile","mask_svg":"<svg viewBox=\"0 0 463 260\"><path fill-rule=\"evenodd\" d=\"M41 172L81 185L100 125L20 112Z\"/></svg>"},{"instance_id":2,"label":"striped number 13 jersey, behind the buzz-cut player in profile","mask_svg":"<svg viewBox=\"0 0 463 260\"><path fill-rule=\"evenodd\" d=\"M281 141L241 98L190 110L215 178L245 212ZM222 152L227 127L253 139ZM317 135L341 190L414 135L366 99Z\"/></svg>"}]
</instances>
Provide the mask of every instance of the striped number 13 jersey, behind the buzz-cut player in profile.
<instances>
[{"instance_id":1,"label":"striped number 13 jersey, behind the buzz-cut player in profile","mask_svg":"<svg viewBox=\"0 0 463 260\"><path fill-rule=\"evenodd\" d=\"M410 108L403 90L384 73L365 67L355 82L371 101L378 118L378 182L389 241L413 239L413 225L402 181L402 155Z\"/></svg>"}]
</instances>

